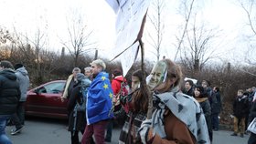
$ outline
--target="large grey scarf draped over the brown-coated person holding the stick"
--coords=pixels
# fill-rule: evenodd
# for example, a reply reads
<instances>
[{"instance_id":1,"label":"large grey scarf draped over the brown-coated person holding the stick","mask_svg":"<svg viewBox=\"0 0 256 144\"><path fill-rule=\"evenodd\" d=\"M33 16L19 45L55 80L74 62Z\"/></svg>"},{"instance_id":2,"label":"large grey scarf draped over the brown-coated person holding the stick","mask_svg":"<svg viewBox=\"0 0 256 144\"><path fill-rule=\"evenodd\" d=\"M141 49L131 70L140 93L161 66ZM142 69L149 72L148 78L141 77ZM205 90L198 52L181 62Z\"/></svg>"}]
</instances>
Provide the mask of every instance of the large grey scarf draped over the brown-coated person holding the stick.
<instances>
[{"instance_id":1,"label":"large grey scarf draped over the brown-coated person holding the stick","mask_svg":"<svg viewBox=\"0 0 256 144\"><path fill-rule=\"evenodd\" d=\"M187 125L197 143L210 143L204 113L195 98L178 92L178 88L175 87L170 92L154 94L153 103L156 109L152 116L152 125L154 132L162 139L166 139L164 114L165 108L169 108L176 118Z\"/></svg>"}]
</instances>

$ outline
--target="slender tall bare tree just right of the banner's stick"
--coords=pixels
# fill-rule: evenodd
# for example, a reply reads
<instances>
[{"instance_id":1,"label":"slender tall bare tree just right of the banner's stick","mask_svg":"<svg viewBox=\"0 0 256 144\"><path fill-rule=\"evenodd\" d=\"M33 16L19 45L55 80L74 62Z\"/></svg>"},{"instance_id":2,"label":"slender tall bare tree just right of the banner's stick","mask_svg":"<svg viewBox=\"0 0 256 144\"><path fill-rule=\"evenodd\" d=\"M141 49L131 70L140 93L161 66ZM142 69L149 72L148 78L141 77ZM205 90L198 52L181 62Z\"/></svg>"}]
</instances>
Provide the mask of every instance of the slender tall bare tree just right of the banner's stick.
<instances>
[{"instance_id":1,"label":"slender tall bare tree just right of the banner's stick","mask_svg":"<svg viewBox=\"0 0 256 144\"><path fill-rule=\"evenodd\" d=\"M153 8L154 11L152 15L148 15L148 18L154 27L156 35L152 35L152 33L149 33L149 44L155 48L156 51L156 58L157 61L160 57L160 49L163 41L163 35L165 31L165 23L164 23L164 17L163 11L165 10L165 0L155 0L153 2Z\"/></svg>"}]
</instances>

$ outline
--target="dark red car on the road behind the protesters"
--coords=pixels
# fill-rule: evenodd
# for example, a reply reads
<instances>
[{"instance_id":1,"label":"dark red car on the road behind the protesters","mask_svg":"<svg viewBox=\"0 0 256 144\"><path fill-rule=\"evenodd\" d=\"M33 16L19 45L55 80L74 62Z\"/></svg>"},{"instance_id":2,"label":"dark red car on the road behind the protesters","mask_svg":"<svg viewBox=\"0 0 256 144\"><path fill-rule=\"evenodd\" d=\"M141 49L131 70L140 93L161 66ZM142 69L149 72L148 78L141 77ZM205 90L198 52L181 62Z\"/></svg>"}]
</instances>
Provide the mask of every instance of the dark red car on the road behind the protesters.
<instances>
[{"instance_id":1,"label":"dark red car on the road behind the protesters","mask_svg":"<svg viewBox=\"0 0 256 144\"><path fill-rule=\"evenodd\" d=\"M61 101L66 80L55 80L27 91L27 116L68 118L67 100Z\"/></svg>"}]
</instances>

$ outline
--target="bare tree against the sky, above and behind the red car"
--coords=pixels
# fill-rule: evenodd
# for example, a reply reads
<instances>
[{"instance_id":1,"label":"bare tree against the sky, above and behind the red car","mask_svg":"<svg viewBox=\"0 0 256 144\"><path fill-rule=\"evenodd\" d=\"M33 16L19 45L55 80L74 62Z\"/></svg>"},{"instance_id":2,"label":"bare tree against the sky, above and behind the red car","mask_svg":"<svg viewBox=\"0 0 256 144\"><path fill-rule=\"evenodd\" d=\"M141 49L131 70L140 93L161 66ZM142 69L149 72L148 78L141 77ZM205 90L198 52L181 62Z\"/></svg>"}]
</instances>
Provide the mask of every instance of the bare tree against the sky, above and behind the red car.
<instances>
[{"instance_id":1,"label":"bare tree against the sky, above and behind the red car","mask_svg":"<svg viewBox=\"0 0 256 144\"><path fill-rule=\"evenodd\" d=\"M85 53L89 52L92 49L95 48L89 48L89 46L95 44L94 42L91 41L91 35L92 35L92 30L89 31L89 28L84 24L82 16L78 15L76 17L73 15L71 18L72 20L71 23L69 24L68 21L68 36L69 36L69 41L68 42L63 42L62 40L62 45L69 50L70 55L74 58L74 67L78 66L78 60L79 57Z\"/></svg>"}]
</instances>

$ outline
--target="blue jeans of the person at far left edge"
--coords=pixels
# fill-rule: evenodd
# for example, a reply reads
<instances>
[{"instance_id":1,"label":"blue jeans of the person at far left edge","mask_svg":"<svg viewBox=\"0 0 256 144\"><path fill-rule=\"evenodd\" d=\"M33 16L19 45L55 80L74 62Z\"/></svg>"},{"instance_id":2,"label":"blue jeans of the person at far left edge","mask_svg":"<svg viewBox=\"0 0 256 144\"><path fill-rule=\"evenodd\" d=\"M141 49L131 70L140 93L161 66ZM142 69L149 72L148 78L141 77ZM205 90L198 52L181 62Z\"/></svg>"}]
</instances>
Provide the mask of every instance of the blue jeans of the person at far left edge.
<instances>
[{"instance_id":1,"label":"blue jeans of the person at far left edge","mask_svg":"<svg viewBox=\"0 0 256 144\"><path fill-rule=\"evenodd\" d=\"M11 140L5 134L7 118L10 118L10 116L0 116L0 144L12 144Z\"/></svg>"}]
</instances>

